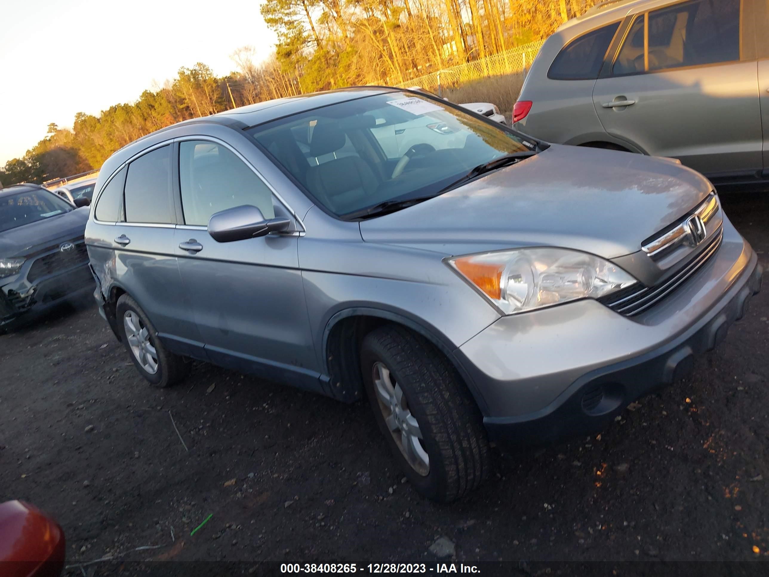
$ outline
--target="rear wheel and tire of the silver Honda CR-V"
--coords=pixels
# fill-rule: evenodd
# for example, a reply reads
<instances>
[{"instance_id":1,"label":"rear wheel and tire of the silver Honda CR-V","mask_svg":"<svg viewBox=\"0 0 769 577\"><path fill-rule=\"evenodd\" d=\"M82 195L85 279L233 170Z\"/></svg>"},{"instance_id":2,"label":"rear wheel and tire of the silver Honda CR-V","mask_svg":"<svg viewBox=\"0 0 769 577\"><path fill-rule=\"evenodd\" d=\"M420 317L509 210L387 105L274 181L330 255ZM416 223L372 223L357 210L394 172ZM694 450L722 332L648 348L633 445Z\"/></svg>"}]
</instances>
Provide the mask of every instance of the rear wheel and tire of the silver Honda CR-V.
<instances>
[{"instance_id":1,"label":"rear wheel and tire of the silver Honda CR-V","mask_svg":"<svg viewBox=\"0 0 769 577\"><path fill-rule=\"evenodd\" d=\"M115 306L115 316L131 361L151 386L165 389L185 378L188 363L165 349L155 326L134 299L122 295Z\"/></svg>"}]
</instances>

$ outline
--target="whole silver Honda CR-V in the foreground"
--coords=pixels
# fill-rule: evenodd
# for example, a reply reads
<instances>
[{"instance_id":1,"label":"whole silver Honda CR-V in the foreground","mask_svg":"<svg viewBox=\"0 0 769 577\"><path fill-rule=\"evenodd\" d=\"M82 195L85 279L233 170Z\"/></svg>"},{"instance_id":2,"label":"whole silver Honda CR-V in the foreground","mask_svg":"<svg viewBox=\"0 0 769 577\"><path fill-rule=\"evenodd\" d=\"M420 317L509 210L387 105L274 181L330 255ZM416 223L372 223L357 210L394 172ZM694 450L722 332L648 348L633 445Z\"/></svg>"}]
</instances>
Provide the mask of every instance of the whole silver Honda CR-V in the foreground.
<instances>
[{"instance_id":1,"label":"whole silver Honda CR-V in the foreground","mask_svg":"<svg viewBox=\"0 0 769 577\"><path fill-rule=\"evenodd\" d=\"M421 142L386 152L423 116ZM145 379L191 357L365 394L441 501L488 475L490 440L600 429L680 378L761 285L697 172L397 88L182 122L112 155L96 189L95 296Z\"/></svg>"}]
</instances>

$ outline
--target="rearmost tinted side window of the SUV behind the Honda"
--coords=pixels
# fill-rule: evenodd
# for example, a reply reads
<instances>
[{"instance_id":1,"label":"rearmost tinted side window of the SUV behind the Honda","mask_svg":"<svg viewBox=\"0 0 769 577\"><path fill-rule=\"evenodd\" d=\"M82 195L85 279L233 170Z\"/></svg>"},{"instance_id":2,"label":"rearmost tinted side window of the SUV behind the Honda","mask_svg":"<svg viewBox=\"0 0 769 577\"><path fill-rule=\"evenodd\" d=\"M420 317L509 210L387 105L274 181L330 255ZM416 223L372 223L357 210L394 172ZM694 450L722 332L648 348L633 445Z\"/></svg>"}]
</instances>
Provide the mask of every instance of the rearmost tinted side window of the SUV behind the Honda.
<instances>
[{"instance_id":1,"label":"rearmost tinted side window of the SUV behind the Honda","mask_svg":"<svg viewBox=\"0 0 769 577\"><path fill-rule=\"evenodd\" d=\"M619 22L614 22L569 42L555 57L548 71L548 78L554 80L598 78L604 56L619 25Z\"/></svg>"}]
</instances>

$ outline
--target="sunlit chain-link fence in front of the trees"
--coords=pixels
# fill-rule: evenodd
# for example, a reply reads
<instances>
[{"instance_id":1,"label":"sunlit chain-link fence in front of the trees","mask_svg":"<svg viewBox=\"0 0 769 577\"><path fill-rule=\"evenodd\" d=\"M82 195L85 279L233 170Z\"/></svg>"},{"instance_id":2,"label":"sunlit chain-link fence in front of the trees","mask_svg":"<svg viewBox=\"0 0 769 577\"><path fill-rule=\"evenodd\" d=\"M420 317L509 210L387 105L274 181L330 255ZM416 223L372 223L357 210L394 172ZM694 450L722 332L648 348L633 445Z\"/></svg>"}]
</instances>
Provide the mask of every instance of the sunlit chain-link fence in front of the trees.
<instances>
[{"instance_id":1,"label":"sunlit chain-link fence in front of the trees","mask_svg":"<svg viewBox=\"0 0 769 577\"><path fill-rule=\"evenodd\" d=\"M477 78L525 72L543 44L544 40L531 42L531 44L511 48L505 52L498 52L466 64L450 66L430 74L410 78L396 86L401 88L419 86L431 92L439 92L441 88L454 88L463 82Z\"/></svg>"}]
</instances>

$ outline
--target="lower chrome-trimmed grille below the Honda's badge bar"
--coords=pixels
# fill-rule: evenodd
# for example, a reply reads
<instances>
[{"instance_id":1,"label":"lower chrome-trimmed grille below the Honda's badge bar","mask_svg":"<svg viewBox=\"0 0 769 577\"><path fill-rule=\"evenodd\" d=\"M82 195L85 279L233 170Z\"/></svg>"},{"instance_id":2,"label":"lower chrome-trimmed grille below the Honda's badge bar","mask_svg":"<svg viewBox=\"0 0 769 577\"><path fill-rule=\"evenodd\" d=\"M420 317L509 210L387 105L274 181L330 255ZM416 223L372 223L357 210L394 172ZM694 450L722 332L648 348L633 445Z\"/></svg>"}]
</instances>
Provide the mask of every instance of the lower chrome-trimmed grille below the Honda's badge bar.
<instances>
[{"instance_id":1,"label":"lower chrome-trimmed grille below the Honda's badge bar","mask_svg":"<svg viewBox=\"0 0 769 577\"><path fill-rule=\"evenodd\" d=\"M638 283L621 291L614 292L611 295L604 296L598 299L598 301L626 316L638 315L638 313L644 312L651 305L660 302L667 295L670 295L687 278L694 275L707 262L707 259L714 255L718 247L721 246L723 236L724 230L719 228L714 238L702 249L697 257L659 285L646 287Z\"/></svg>"}]
</instances>

